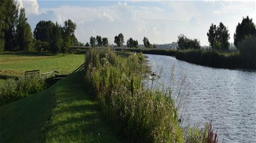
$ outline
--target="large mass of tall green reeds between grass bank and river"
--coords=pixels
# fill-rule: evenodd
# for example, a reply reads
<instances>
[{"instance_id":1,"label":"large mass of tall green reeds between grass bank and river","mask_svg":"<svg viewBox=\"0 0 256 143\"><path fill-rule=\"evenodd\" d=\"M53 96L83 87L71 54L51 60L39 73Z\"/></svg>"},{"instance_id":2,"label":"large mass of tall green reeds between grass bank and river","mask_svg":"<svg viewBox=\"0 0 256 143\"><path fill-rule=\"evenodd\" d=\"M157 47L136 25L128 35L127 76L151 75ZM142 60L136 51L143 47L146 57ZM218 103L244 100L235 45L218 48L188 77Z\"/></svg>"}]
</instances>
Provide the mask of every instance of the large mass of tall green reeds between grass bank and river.
<instances>
[{"instance_id":1,"label":"large mass of tall green reeds between grass bank and river","mask_svg":"<svg viewBox=\"0 0 256 143\"><path fill-rule=\"evenodd\" d=\"M85 56L85 81L124 142L183 142L171 96L144 89L141 55L118 57L110 49Z\"/></svg>"}]
</instances>

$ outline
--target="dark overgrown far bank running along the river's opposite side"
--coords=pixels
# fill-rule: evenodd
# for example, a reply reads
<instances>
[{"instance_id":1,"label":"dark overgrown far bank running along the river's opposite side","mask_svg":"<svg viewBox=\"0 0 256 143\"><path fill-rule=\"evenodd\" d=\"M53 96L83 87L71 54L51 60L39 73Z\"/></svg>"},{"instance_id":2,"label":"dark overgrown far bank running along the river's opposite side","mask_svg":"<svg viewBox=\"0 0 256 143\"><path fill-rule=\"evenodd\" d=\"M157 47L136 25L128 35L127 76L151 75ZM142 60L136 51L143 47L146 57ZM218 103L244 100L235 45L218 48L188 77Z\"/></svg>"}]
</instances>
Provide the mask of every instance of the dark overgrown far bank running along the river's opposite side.
<instances>
[{"instance_id":1,"label":"dark overgrown far bank running along the river's opposite side","mask_svg":"<svg viewBox=\"0 0 256 143\"><path fill-rule=\"evenodd\" d=\"M106 47L99 47L105 49ZM217 51L203 49L188 49L178 51L176 49L152 49L152 48L111 48L114 51L136 52L153 55L175 56L178 60L186 61L212 68L223 69L256 69L256 57L247 58L241 56L238 52L221 53ZM74 53L86 53L90 47L72 48Z\"/></svg>"}]
</instances>

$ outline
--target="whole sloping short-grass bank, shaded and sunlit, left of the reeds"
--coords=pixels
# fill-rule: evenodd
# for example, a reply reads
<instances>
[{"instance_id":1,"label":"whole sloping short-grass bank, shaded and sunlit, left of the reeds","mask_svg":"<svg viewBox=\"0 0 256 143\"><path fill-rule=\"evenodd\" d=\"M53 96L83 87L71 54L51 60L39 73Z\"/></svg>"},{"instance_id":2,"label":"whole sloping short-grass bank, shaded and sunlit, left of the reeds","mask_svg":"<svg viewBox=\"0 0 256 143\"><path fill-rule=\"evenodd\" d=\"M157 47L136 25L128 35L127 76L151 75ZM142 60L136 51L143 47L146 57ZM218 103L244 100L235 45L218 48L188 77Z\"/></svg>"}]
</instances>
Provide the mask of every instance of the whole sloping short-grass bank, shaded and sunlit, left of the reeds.
<instances>
[{"instance_id":1,"label":"whole sloping short-grass bank, shaded and sunlit, left of the reeds","mask_svg":"<svg viewBox=\"0 0 256 143\"><path fill-rule=\"evenodd\" d=\"M0 142L118 142L82 74L0 107Z\"/></svg>"}]
</instances>

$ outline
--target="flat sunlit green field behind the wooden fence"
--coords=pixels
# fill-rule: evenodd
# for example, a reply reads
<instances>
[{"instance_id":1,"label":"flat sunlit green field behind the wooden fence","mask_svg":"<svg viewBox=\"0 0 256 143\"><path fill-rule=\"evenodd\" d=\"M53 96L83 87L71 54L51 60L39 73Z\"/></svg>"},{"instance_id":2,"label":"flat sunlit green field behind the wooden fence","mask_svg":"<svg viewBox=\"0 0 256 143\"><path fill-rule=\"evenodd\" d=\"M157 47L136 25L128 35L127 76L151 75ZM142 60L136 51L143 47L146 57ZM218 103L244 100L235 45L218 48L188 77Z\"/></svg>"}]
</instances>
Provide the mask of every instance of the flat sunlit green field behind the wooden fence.
<instances>
[{"instance_id":1,"label":"flat sunlit green field behind the wooden fence","mask_svg":"<svg viewBox=\"0 0 256 143\"><path fill-rule=\"evenodd\" d=\"M84 55L4 54L0 55L0 61L0 75L2 76L19 76L29 70L40 70L44 73L54 69L60 73L70 73L84 62Z\"/></svg>"}]
</instances>

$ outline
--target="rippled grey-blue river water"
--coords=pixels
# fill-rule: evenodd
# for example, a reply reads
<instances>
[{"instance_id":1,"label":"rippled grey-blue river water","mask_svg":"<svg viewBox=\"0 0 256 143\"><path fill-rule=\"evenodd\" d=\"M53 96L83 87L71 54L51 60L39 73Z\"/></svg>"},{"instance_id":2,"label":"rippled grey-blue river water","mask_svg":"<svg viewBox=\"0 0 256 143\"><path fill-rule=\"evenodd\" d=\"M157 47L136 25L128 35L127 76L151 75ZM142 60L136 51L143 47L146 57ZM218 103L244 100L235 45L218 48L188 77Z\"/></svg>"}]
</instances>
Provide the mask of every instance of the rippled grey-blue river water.
<instances>
[{"instance_id":1,"label":"rippled grey-blue river water","mask_svg":"<svg viewBox=\"0 0 256 143\"><path fill-rule=\"evenodd\" d=\"M186 76L185 124L202 128L212 121L219 142L256 142L256 71L214 69L171 56L145 55L152 71L162 68L159 81L165 85L170 82L173 64L175 78Z\"/></svg>"}]
</instances>

